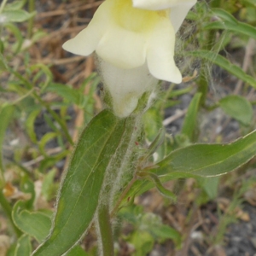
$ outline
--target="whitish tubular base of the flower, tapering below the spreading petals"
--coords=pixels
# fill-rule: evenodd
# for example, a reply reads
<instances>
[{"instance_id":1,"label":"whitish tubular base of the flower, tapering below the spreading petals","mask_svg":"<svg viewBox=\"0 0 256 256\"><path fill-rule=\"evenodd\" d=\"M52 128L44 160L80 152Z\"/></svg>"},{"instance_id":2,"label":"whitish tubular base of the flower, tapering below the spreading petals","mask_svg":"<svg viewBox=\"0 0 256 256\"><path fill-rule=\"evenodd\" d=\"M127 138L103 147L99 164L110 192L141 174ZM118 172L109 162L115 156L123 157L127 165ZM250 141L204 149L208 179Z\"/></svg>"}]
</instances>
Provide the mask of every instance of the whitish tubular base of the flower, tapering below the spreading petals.
<instances>
[{"instance_id":1,"label":"whitish tubular base of the flower, tapering below the spreading petals","mask_svg":"<svg viewBox=\"0 0 256 256\"><path fill-rule=\"evenodd\" d=\"M98 59L102 82L107 86L113 99L113 111L120 118L130 115L143 93L152 90L158 83L144 64L141 67L122 69Z\"/></svg>"}]
</instances>

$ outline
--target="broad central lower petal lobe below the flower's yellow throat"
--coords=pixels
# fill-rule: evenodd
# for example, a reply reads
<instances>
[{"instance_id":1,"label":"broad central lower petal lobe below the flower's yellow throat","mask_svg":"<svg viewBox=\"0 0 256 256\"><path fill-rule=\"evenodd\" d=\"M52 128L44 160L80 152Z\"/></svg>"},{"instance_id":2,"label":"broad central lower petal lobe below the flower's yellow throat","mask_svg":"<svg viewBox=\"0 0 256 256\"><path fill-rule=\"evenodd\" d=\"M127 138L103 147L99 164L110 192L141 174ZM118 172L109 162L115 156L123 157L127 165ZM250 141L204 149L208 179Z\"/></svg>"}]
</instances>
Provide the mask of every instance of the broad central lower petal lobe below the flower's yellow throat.
<instances>
[{"instance_id":1,"label":"broad central lower petal lobe below the flower's yellow throat","mask_svg":"<svg viewBox=\"0 0 256 256\"><path fill-rule=\"evenodd\" d=\"M135 68L146 61L146 44L146 34L131 32L113 23L97 45L96 53L113 66Z\"/></svg>"}]
</instances>

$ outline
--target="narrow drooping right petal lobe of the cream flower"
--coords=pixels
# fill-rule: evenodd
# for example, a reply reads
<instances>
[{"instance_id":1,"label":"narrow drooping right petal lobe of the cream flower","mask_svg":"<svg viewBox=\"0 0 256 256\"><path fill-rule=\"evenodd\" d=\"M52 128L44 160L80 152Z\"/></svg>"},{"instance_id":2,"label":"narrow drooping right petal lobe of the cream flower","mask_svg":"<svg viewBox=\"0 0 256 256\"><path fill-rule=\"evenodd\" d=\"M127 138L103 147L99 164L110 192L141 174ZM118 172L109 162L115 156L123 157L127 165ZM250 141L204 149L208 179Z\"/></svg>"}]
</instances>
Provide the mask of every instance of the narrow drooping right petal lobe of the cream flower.
<instances>
[{"instance_id":1,"label":"narrow drooping right petal lobe of the cream flower","mask_svg":"<svg viewBox=\"0 0 256 256\"><path fill-rule=\"evenodd\" d=\"M156 78L179 84L182 75L173 60L175 32L170 20L162 19L148 40L147 63L149 72Z\"/></svg>"}]
</instances>

